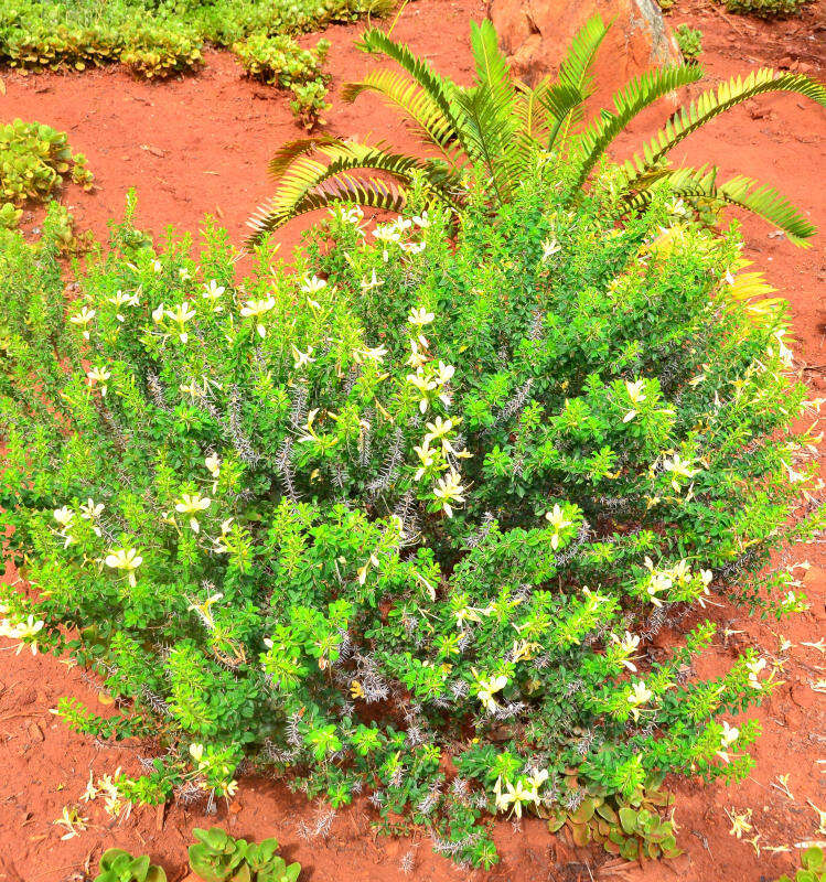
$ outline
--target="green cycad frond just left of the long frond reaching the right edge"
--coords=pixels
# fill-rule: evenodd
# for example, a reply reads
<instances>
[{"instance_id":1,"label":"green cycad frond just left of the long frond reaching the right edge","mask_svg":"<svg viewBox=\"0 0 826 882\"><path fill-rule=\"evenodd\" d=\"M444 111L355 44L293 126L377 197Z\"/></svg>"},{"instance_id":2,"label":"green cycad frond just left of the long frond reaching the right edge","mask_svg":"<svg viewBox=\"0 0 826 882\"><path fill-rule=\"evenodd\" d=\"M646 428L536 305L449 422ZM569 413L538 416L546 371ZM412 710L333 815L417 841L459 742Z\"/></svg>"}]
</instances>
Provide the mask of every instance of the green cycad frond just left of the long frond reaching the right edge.
<instances>
[{"instance_id":1,"label":"green cycad frond just left of the long frond reaching the right edge","mask_svg":"<svg viewBox=\"0 0 826 882\"><path fill-rule=\"evenodd\" d=\"M646 71L618 92L613 98L615 112L602 110L601 117L577 136L572 150L578 165L573 189L582 186L611 141L640 111L679 86L700 79L702 73L698 64Z\"/></svg>"}]
</instances>

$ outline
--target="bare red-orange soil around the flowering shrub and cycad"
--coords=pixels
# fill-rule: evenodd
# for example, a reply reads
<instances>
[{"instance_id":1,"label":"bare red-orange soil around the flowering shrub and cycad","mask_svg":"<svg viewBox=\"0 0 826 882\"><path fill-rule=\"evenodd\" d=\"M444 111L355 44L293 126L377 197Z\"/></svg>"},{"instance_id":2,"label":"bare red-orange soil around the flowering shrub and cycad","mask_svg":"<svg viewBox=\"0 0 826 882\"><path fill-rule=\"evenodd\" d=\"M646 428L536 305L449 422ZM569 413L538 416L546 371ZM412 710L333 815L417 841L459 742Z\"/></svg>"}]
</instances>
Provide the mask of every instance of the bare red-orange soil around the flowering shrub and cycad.
<instances>
[{"instance_id":1,"label":"bare red-orange soil around the flowering shrub and cycad","mask_svg":"<svg viewBox=\"0 0 826 882\"><path fill-rule=\"evenodd\" d=\"M468 22L483 15L479 0L421 0L405 10L396 35L412 49L427 53L440 71L466 80ZM791 67L824 78L823 6L808 7L800 19L772 24L729 17L717 4L678 0L671 20L699 26L704 33L704 63L716 82L732 73L768 64ZM337 100L341 84L358 76L369 63L352 47L357 28L333 28L330 66L333 104L330 131L345 136L387 137L412 149L397 118L371 98L355 106ZM243 79L232 56L211 52L196 77L165 84L136 82L119 71L82 75L44 74L22 77L3 74L7 94L0 95L0 118L22 117L47 122L69 133L75 150L85 152L97 176L97 191L67 193L81 228L105 235L106 220L119 217L127 190L139 192L138 222L160 233L168 224L196 232L202 216L212 213L240 238L250 209L266 197L266 161L285 140L299 136L282 94ZM662 122L667 108L652 112L625 136L618 153L627 153ZM743 172L776 183L812 219L826 228L823 198L824 135L826 114L811 103L791 96L753 101L697 133L676 161L714 160L723 173ZM769 279L792 304L795 355L801 376L813 396L826 388L826 259L824 236L808 250L796 249L759 220L744 222L747 254L766 270ZM297 241L290 229L282 240ZM822 458L823 462L823 458ZM65 660L52 657L14 657L2 652L0 669L0 882L67 882L84 880L97 867L104 848L122 846L149 852L168 869L171 882L185 875L185 846L191 830L216 821L235 835L275 835L290 859L304 867L302 879L313 882L354 879L393 882L406 876L399 863L412 850L415 878L419 880L627 879L773 880L796 865L795 843L824 839L817 816L807 804L826 808L818 766L824 736L823 704L812 685L823 679L823 652L802 643L824 635L826 609L826 555L820 546L798 549L797 560L808 559L805 589L812 601L808 613L776 623L750 621L728 606L715 611L720 623L716 645L698 664L698 674L714 676L725 669L738 649L753 645L770 657L779 655L783 635L791 648L785 682L754 712L764 730L754 749L757 767L743 783L725 787L677 783L676 820L685 854L669 863L640 869L604 863L594 851L575 849L550 836L535 819L523 821L522 831L502 821L496 840L502 863L490 874L469 873L435 856L429 842L377 838L368 807L356 805L337 813L325 836L301 837L301 822L312 827L325 810L292 795L281 784L244 779L238 796L218 806L217 817L202 807L170 805L165 811L135 808L121 824L111 821L92 803L83 807L88 830L61 840L64 829L53 821L64 805L77 803L90 771L96 777L118 766L136 771L141 746L93 743L69 732L50 713L61 696L76 696L96 708L95 682ZM804 572L798 570L797 572ZM7 573L7 579L13 578ZM723 637L729 628L729 637ZM676 636L676 635L675 635ZM774 786L789 775L790 799ZM725 809L753 810L757 849L729 835ZM791 847L792 854L772 847ZM758 849L762 852L758 853Z\"/></svg>"}]
</instances>

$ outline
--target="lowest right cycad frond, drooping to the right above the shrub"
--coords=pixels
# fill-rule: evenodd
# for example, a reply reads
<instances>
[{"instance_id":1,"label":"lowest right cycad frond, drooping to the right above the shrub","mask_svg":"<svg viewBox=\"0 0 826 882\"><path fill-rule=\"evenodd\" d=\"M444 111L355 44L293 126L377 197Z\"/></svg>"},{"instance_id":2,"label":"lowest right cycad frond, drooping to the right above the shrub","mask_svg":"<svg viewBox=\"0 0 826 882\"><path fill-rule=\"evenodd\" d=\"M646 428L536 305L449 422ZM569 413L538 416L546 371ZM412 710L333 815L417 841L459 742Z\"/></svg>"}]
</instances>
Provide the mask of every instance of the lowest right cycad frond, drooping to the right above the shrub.
<instances>
[{"instance_id":1,"label":"lowest right cycad frond, drooping to the right above the shrub","mask_svg":"<svg viewBox=\"0 0 826 882\"><path fill-rule=\"evenodd\" d=\"M675 195L691 204L711 201L752 212L782 229L795 245L808 245L805 240L817 233L817 228L803 216L801 211L773 187L760 185L743 175L737 175L718 184L717 174L716 168L709 169L705 165L700 169L653 172L641 179L645 182L645 186L625 200L625 207L627 211L644 207L651 202L654 182L662 182Z\"/></svg>"}]
</instances>

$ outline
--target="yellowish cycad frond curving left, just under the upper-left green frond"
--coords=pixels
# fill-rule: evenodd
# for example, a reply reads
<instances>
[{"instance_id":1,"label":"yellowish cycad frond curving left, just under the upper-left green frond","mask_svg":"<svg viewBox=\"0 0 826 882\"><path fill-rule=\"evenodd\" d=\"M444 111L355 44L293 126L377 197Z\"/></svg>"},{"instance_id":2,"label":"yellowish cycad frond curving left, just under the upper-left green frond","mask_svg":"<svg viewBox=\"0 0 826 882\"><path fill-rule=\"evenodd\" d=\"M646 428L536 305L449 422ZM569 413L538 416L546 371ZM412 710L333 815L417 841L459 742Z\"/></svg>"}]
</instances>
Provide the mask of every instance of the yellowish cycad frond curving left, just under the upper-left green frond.
<instances>
[{"instance_id":1,"label":"yellowish cycad frond curving left, just under the upper-left green frond","mask_svg":"<svg viewBox=\"0 0 826 882\"><path fill-rule=\"evenodd\" d=\"M355 83L345 83L342 98L354 101L362 93L373 92L406 116L406 121L428 144L436 146L451 159L450 147L455 131L450 120L425 89L409 76L395 71L371 71Z\"/></svg>"}]
</instances>

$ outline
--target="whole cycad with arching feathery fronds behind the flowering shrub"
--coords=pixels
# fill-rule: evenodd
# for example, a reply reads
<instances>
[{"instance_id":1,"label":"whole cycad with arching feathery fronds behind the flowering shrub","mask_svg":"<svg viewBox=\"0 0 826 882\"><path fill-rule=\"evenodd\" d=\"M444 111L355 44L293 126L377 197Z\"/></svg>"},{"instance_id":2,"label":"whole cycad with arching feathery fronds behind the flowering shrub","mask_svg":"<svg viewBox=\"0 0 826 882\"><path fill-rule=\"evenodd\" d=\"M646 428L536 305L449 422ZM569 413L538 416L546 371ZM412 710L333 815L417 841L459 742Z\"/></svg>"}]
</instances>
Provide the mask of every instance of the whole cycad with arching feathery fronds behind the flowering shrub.
<instances>
[{"instance_id":1,"label":"whole cycad with arching feathery fronds behind the flowering shrub","mask_svg":"<svg viewBox=\"0 0 826 882\"><path fill-rule=\"evenodd\" d=\"M387 33L367 30L360 47L384 55L400 69L372 69L345 86L345 100L355 100L363 92L380 95L438 155L421 159L383 144L329 136L291 141L270 162L277 189L248 222L254 230L250 241L299 215L340 203L398 212L414 181L430 198L461 209L468 193L466 170L474 166L486 175L494 207L513 198L519 181L537 162L566 169L560 183L575 201L614 138L637 114L702 76L696 64L644 73L614 95L612 109L601 110L584 125L586 101L594 89L591 71L605 32L602 19L592 18L573 39L556 80L546 78L532 88L512 76L489 21L471 24L476 75L470 87L438 75ZM669 152L691 132L769 92L796 93L826 107L822 84L771 68L702 93L624 163L622 211L643 207L651 201L652 187L665 183L689 207L707 212L711 206L736 205L780 227L795 244L813 236L814 226L776 190L742 175L720 183L712 165L672 169L668 163Z\"/></svg>"}]
</instances>

